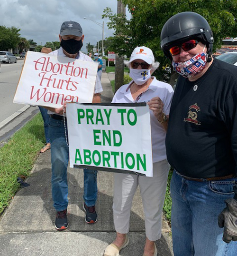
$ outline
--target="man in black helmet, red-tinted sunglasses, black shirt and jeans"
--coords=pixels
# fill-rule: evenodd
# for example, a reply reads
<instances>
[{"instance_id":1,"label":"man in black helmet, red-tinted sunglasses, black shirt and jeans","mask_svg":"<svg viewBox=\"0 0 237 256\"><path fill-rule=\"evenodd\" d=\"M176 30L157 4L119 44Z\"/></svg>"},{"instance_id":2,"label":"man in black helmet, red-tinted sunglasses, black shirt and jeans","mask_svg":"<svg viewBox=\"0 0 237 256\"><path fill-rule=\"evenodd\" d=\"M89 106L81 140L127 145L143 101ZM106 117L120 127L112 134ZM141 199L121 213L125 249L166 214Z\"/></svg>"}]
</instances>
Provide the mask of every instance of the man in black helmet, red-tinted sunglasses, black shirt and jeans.
<instances>
[{"instance_id":1,"label":"man in black helmet, red-tinted sunglasses, black shirt and jeans","mask_svg":"<svg viewBox=\"0 0 237 256\"><path fill-rule=\"evenodd\" d=\"M166 135L175 256L237 253L237 67L212 58L213 40L194 12L174 15L161 32L180 74Z\"/></svg>"}]
</instances>

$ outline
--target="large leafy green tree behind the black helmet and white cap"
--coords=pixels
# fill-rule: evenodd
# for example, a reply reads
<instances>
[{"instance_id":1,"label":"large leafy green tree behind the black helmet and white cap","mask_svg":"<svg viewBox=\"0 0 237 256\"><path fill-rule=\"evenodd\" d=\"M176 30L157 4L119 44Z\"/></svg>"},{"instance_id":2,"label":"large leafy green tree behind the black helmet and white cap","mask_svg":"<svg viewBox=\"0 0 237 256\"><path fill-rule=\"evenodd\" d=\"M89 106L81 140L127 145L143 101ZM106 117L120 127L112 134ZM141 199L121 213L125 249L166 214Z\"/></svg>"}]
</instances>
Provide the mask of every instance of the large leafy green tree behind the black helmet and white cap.
<instances>
[{"instance_id":1,"label":"large leafy green tree behind the black helmet and white cap","mask_svg":"<svg viewBox=\"0 0 237 256\"><path fill-rule=\"evenodd\" d=\"M170 62L160 48L160 34L164 23L174 14L194 11L208 20L214 34L214 50L220 48L221 39L237 36L237 0L122 0L128 5L131 19L104 10L109 18L109 29L115 30L112 48L119 55L130 56L136 46L147 46L161 63L157 76L164 78L164 67Z\"/></svg>"}]
</instances>

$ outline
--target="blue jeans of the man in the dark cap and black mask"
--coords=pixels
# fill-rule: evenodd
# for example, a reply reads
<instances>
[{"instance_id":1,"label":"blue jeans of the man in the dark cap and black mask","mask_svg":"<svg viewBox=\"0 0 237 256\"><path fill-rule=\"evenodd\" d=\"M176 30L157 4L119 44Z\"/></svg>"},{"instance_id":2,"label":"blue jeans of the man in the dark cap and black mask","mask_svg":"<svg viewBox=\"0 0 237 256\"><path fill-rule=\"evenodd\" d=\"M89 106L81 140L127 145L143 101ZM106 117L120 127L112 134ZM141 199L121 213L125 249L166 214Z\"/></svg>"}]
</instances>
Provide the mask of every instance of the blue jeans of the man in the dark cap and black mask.
<instances>
[{"instance_id":1,"label":"blue jeans of the man in the dark cap and black mask","mask_svg":"<svg viewBox=\"0 0 237 256\"><path fill-rule=\"evenodd\" d=\"M69 148L65 139L63 120L49 118L49 136L51 141L52 197L56 211L63 211L68 206L67 167L69 161ZM95 205L97 171L84 169L83 198L88 207Z\"/></svg>"}]
</instances>

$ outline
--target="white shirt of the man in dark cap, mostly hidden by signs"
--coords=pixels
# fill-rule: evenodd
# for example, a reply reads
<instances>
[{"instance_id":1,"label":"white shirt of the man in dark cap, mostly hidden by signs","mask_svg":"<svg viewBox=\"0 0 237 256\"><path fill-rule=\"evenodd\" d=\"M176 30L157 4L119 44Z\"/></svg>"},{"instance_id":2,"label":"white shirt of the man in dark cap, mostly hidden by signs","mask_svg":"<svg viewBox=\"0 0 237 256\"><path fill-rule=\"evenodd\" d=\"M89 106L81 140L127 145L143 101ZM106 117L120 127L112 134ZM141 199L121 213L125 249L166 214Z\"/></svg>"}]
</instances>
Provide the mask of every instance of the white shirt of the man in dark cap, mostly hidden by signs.
<instances>
[{"instance_id":1,"label":"white shirt of the man in dark cap, mostly hidden by signs","mask_svg":"<svg viewBox=\"0 0 237 256\"><path fill-rule=\"evenodd\" d=\"M48 53L50 55L54 55L54 56L62 56L62 57L67 57L65 54L64 54L64 51L63 51L63 48L60 47L59 49L55 50L55 51L52 51L50 53ZM81 59L81 60L86 60L86 61L92 61L93 60L91 59L91 57L87 56L86 54L82 53L82 52L78 52L77 56L75 59ZM96 80L95 80L95 90L94 90L94 93L100 93L102 92L103 89L102 89L102 85L101 85L101 82L100 82L100 78L98 77L98 74L96 76ZM52 112L50 110L48 110L48 114L56 114L55 112Z\"/></svg>"}]
</instances>

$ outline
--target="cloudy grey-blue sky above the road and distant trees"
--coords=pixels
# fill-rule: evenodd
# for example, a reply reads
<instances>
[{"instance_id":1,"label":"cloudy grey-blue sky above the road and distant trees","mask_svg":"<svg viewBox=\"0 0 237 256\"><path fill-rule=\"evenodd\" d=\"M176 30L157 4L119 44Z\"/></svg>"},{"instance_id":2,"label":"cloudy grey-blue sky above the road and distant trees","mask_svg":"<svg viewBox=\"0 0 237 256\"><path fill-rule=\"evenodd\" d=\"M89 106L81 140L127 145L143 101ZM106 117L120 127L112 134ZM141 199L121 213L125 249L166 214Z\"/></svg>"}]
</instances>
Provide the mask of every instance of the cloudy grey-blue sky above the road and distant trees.
<instances>
[{"instance_id":1,"label":"cloudy grey-blue sky above the road and distant trees","mask_svg":"<svg viewBox=\"0 0 237 256\"><path fill-rule=\"evenodd\" d=\"M0 25L17 27L21 37L45 45L59 40L64 21L77 21L85 35L82 50L86 51L87 43L96 44L102 39L102 28L91 20L104 20L104 39L113 34L107 27L108 20L101 18L106 7L116 13L117 0L0 0Z\"/></svg>"}]
</instances>

